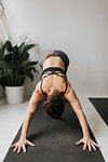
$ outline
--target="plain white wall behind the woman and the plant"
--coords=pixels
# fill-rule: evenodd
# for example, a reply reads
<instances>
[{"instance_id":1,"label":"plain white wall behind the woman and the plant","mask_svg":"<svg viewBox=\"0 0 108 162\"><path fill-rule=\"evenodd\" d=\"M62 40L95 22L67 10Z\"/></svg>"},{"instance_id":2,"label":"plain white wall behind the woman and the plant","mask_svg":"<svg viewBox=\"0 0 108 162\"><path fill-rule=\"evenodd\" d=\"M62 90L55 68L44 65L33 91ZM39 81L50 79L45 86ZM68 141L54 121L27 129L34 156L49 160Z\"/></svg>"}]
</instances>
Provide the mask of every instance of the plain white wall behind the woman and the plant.
<instances>
[{"instance_id":1,"label":"plain white wall behind the woman and the plant","mask_svg":"<svg viewBox=\"0 0 108 162\"><path fill-rule=\"evenodd\" d=\"M78 94L108 94L108 0L2 0L14 40L27 35L40 48L70 58L68 77ZM37 81L26 83L31 93ZM29 82L28 82L29 83Z\"/></svg>"}]
</instances>

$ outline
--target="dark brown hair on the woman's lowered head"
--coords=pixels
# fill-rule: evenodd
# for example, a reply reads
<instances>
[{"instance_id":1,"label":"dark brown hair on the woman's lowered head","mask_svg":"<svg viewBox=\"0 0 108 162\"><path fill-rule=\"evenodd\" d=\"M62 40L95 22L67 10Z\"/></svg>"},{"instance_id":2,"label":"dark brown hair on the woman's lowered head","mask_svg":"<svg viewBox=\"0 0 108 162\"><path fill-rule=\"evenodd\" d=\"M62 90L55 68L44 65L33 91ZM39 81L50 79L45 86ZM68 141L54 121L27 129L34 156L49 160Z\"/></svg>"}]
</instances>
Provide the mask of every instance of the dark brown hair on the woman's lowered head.
<instances>
[{"instance_id":1,"label":"dark brown hair on the woman's lowered head","mask_svg":"<svg viewBox=\"0 0 108 162\"><path fill-rule=\"evenodd\" d=\"M65 102L62 94L53 93L48 96L43 103L43 108L45 112L53 119L62 119L64 113Z\"/></svg>"}]
</instances>

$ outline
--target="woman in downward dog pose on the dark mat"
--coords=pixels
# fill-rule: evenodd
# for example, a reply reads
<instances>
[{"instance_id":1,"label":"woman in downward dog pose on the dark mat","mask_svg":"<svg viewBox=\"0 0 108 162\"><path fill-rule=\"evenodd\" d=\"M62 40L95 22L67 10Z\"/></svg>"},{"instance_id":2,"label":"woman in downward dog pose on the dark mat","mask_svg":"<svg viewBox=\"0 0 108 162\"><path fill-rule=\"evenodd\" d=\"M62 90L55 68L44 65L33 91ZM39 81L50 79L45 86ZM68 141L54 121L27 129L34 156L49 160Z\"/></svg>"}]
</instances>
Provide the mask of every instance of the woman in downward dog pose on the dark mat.
<instances>
[{"instance_id":1,"label":"woman in downward dog pose on the dark mat","mask_svg":"<svg viewBox=\"0 0 108 162\"><path fill-rule=\"evenodd\" d=\"M53 119L62 119L65 105L64 98L66 98L70 103L82 127L83 137L76 145L83 143L83 150L86 147L89 147L90 151L92 151L92 147L96 150L96 147L99 146L91 139L87 121L79 98L66 76L69 65L68 56L62 51L51 51L40 57L39 65L42 68L41 80L38 82L29 100L21 138L17 143L10 146L10 148L14 147L13 151L19 153L22 149L26 152L26 145L35 146L27 139L27 132L40 100L45 98L43 108L50 117Z\"/></svg>"}]
</instances>

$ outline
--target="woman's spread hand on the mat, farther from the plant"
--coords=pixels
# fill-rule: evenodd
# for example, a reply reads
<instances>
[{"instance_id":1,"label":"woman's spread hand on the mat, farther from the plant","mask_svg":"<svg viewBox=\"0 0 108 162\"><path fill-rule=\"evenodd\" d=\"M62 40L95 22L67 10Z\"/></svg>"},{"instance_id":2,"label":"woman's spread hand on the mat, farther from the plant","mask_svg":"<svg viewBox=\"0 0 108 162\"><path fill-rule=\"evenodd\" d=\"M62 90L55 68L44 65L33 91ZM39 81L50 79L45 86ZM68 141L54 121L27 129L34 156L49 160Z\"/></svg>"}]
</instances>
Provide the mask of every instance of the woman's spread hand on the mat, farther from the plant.
<instances>
[{"instance_id":1,"label":"woman's spread hand on the mat, farther from the plant","mask_svg":"<svg viewBox=\"0 0 108 162\"><path fill-rule=\"evenodd\" d=\"M98 144L96 144L95 141L93 141L91 139L91 137L87 137L87 136L85 136L82 139L80 139L78 143L76 143L76 145L80 145L82 143L84 144L83 150L85 150L86 147L89 147L90 151L92 151L92 147L93 147L94 150L96 150L96 147L100 148L100 146Z\"/></svg>"}]
</instances>

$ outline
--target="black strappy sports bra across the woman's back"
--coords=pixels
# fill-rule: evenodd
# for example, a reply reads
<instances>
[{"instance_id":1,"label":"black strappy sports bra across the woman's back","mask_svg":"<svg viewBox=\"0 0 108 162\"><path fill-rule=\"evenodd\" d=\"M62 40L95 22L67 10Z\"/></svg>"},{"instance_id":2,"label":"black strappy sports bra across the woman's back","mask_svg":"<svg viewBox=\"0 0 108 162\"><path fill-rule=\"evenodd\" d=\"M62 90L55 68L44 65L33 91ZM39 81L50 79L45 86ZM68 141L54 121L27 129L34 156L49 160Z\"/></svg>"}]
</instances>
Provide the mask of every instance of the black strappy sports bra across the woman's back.
<instances>
[{"instance_id":1,"label":"black strappy sports bra across the woman's back","mask_svg":"<svg viewBox=\"0 0 108 162\"><path fill-rule=\"evenodd\" d=\"M63 75L62 75L63 73ZM44 78L51 76L51 75L57 75L62 78L64 78L65 82L66 82L66 89L65 91L62 93L62 95L64 95L67 91L67 77L66 77L66 71L59 67L49 67L46 69L44 69L41 73L41 84L40 84L40 89L41 89L41 92L43 93L43 95L46 97L48 94L43 92L42 90L42 83L43 83L43 80Z\"/></svg>"}]
</instances>

